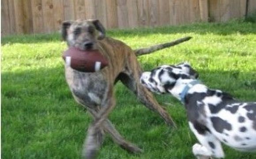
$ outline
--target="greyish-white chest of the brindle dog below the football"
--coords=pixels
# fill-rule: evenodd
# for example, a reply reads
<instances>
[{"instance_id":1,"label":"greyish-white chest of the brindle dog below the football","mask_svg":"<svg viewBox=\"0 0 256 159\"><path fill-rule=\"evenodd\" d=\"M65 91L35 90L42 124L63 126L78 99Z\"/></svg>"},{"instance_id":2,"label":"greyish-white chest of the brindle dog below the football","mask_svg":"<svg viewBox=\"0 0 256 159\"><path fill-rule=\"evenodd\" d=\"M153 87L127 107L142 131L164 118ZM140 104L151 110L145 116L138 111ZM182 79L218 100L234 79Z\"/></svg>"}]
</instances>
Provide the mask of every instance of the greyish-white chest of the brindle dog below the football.
<instances>
[{"instance_id":1,"label":"greyish-white chest of the brindle dog below the football","mask_svg":"<svg viewBox=\"0 0 256 159\"><path fill-rule=\"evenodd\" d=\"M102 72L85 73L66 67L65 76L77 102L87 107L101 105L107 89Z\"/></svg>"}]
</instances>

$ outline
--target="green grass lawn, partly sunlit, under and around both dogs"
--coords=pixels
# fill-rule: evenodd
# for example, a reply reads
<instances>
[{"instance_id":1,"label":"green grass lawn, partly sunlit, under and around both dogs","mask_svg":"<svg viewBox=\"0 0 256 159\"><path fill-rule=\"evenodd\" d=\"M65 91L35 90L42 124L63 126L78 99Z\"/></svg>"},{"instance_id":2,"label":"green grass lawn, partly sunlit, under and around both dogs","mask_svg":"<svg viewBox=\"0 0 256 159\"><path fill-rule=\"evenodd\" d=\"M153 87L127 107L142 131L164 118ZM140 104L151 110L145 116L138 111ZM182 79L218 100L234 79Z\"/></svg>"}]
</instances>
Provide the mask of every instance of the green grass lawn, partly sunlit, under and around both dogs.
<instances>
[{"instance_id":1,"label":"green grass lawn, partly sunlit, under and around both dogs","mask_svg":"<svg viewBox=\"0 0 256 159\"><path fill-rule=\"evenodd\" d=\"M138 58L143 69L189 61L208 87L256 101L256 23L232 21L154 29L110 30L108 36L132 48L192 36L188 42ZM60 36L26 35L2 38L2 159L78 159L91 118L72 98L61 58ZM196 138L188 128L184 107L169 95L156 95L177 123L166 126L120 83L110 115L117 130L144 149L132 155L109 136L99 159L193 159ZM224 146L226 159L256 159L256 153Z\"/></svg>"}]
</instances>

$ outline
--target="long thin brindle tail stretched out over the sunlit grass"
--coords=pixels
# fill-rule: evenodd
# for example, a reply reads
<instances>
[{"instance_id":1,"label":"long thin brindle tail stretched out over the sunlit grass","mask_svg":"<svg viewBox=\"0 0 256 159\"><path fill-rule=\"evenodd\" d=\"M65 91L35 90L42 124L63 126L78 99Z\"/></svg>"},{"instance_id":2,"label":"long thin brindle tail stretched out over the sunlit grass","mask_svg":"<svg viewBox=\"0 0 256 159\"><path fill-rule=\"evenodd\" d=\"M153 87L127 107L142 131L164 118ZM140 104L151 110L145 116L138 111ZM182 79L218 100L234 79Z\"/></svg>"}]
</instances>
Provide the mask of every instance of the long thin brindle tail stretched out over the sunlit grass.
<instances>
[{"instance_id":1,"label":"long thin brindle tail stretched out over the sunlit grass","mask_svg":"<svg viewBox=\"0 0 256 159\"><path fill-rule=\"evenodd\" d=\"M134 52L135 52L136 56L140 56L140 55L143 55L143 54L150 54L154 51L158 51L158 50L164 49L166 47L172 47L172 46L177 45L179 43L183 43L185 41L190 40L191 38L192 37L187 36L187 37L177 39L177 40L169 42L169 43L162 43L162 44L154 45L154 46L151 46L151 47L137 49L137 50L134 50Z\"/></svg>"}]
</instances>

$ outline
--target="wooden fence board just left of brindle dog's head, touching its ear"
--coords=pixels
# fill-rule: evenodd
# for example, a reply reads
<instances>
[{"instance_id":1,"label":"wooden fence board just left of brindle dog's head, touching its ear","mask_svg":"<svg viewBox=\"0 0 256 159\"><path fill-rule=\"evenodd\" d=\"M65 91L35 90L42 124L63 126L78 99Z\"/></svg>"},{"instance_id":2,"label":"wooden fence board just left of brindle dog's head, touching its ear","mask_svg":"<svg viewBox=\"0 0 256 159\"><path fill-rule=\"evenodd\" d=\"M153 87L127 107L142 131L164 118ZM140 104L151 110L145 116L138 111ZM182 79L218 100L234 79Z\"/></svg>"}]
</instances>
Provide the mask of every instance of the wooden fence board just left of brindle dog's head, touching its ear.
<instances>
[{"instance_id":1,"label":"wooden fence board just left of brindle dog's head, touching its ear","mask_svg":"<svg viewBox=\"0 0 256 159\"><path fill-rule=\"evenodd\" d=\"M60 29L61 23L64 21L64 7L63 0L53 0L54 11L54 30Z\"/></svg>"}]
</instances>

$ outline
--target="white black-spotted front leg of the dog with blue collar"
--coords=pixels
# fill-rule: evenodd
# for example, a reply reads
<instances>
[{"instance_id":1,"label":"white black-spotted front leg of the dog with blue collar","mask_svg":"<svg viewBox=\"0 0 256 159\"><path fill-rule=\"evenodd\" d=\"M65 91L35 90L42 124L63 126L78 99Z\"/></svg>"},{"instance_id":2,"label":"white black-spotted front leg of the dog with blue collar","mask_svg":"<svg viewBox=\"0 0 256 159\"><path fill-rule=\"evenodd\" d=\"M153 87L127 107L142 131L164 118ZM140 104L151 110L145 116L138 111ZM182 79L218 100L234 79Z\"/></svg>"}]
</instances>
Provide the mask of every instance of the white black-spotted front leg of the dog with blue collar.
<instances>
[{"instance_id":1,"label":"white black-spotted front leg of the dog with blue collar","mask_svg":"<svg viewBox=\"0 0 256 159\"><path fill-rule=\"evenodd\" d=\"M207 130L204 130L204 132L198 131L191 122L189 122L189 127L201 144L195 144L192 148L193 154L198 159L209 159L211 156L218 159L224 158L221 142L211 132Z\"/></svg>"}]
</instances>

